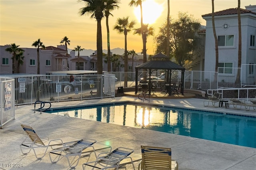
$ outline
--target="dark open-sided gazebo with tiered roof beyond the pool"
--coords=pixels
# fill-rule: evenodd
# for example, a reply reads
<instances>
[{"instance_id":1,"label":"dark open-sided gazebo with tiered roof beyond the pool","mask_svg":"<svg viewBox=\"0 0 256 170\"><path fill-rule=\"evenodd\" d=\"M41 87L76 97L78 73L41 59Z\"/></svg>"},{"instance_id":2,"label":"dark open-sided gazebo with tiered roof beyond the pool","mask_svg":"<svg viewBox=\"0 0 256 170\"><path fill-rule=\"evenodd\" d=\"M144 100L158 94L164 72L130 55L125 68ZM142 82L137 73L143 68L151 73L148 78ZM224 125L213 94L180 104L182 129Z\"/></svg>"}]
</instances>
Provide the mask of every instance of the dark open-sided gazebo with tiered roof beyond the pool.
<instances>
[{"instance_id":1,"label":"dark open-sided gazebo with tiered roof beyond the pool","mask_svg":"<svg viewBox=\"0 0 256 170\"><path fill-rule=\"evenodd\" d=\"M149 77L151 77L151 72L153 70L166 70L169 73L169 82L171 84L171 73L172 70L181 70L181 86L180 86L180 92L182 95L184 95L184 73L185 68L173 63L170 61L170 58L166 55L163 55L162 53L158 53L151 57L150 61L147 61L146 63L140 64L135 67L135 77L138 78L138 70L148 70ZM151 78L149 78L149 84L151 83ZM148 86L148 92L150 94L150 86ZM138 81L135 82L135 94L138 92Z\"/></svg>"}]
</instances>

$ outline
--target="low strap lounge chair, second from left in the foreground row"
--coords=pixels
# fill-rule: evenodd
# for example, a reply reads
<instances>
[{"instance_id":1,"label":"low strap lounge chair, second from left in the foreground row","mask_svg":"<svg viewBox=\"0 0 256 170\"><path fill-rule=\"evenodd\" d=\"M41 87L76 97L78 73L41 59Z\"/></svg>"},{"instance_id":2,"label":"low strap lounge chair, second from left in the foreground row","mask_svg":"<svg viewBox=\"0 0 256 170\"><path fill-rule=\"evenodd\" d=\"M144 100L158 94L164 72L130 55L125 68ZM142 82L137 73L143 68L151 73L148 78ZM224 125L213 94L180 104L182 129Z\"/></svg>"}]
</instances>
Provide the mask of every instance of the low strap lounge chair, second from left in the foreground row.
<instances>
[{"instance_id":1,"label":"low strap lounge chair, second from left in the foreground row","mask_svg":"<svg viewBox=\"0 0 256 170\"><path fill-rule=\"evenodd\" d=\"M77 166L85 149L91 148L96 157L96 152L92 146L94 143L96 143L96 140L93 139L82 139L76 143L65 143L62 149L55 149L49 152L50 160L52 163L56 163L61 157L65 157L68 160L70 168L74 168Z\"/></svg>"}]
</instances>

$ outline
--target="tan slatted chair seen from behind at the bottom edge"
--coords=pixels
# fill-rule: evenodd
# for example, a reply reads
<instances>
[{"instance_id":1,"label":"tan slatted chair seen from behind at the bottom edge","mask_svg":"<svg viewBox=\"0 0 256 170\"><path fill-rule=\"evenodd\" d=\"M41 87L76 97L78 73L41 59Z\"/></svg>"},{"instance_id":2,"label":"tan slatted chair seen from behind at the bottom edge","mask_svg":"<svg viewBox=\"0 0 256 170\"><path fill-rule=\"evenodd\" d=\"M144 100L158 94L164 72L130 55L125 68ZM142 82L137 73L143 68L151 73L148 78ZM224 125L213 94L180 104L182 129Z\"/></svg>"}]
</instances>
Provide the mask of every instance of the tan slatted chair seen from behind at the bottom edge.
<instances>
[{"instance_id":1,"label":"tan slatted chair seen from behind at the bottom edge","mask_svg":"<svg viewBox=\"0 0 256 170\"><path fill-rule=\"evenodd\" d=\"M138 170L178 170L170 148L141 146L142 160Z\"/></svg>"}]
</instances>

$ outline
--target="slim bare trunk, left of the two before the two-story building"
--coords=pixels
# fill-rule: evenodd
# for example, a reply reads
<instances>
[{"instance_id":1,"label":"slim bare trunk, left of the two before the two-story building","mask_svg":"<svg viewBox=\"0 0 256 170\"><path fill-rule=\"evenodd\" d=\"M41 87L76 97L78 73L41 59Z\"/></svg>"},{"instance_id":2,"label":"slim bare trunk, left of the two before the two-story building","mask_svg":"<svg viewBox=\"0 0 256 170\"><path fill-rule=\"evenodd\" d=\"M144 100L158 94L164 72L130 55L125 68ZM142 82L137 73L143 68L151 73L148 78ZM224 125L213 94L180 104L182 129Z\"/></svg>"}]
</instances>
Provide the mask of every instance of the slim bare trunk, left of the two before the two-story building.
<instances>
[{"instance_id":1,"label":"slim bare trunk, left of the two before the two-story building","mask_svg":"<svg viewBox=\"0 0 256 170\"><path fill-rule=\"evenodd\" d=\"M215 30L215 20L214 20L214 0L212 0L212 29L215 40L215 71L218 72L218 64L219 64L219 50L218 50L218 39ZM217 80L217 76L215 76L214 80Z\"/></svg>"}]
</instances>

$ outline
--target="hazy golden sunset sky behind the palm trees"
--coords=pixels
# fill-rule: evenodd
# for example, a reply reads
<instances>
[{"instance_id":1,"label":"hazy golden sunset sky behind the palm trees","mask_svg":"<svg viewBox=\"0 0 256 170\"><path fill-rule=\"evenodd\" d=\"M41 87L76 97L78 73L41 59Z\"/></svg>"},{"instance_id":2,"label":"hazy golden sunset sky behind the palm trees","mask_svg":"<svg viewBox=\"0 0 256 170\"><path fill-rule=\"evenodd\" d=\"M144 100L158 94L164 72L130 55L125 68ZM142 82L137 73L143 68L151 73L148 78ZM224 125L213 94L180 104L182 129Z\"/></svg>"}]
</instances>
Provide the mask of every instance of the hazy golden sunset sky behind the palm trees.
<instances>
[{"instance_id":1,"label":"hazy golden sunset sky behind the palm trees","mask_svg":"<svg viewBox=\"0 0 256 170\"><path fill-rule=\"evenodd\" d=\"M135 28L140 27L140 11L130 7L130 0L121 0L120 8L111 12L109 18L110 48L124 48L124 34L113 30L117 18L129 16L135 20ZM154 27L155 35L167 17L167 0L144 0L144 21L150 18L150 26ZM214 0L215 11L236 8L237 0ZM255 0L241 0L241 8L255 5ZM84 2L78 0L0 0L0 45L16 43L20 47L31 48L38 38L45 46L60 45L64 36L70 40L69 49L80 45L84 49L96 50L96 20L90 16L80 16L78 11ZM136 12L137 11L137 12ZM212 12L211 0L170 0L170 16L176 18L178 12L187 12L200 20L206 21L203 14ZM153 14L153 15L152 15ZM128 50L142 51L142 38L128 33ZM102 19L102 46L107 49L106 20ZM154 54L153 37L147 39L147 53Z\"/></svg>"}]
</instances>

